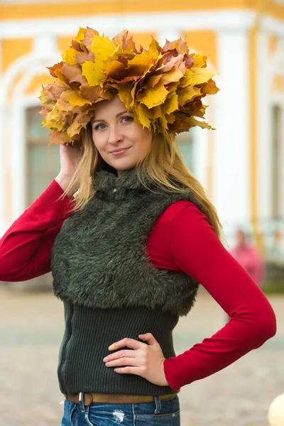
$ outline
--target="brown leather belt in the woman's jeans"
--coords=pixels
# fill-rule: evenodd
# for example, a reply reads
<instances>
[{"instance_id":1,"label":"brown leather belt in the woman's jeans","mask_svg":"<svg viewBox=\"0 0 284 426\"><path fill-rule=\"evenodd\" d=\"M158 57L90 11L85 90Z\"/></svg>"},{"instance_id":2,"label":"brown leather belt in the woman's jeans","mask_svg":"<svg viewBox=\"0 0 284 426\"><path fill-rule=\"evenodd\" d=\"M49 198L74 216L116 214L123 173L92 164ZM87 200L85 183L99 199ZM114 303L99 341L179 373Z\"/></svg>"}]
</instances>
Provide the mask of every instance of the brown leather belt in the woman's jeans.
<instances>
[{"instance_id":1,"label":"brown leather belt in the woman's jeans","mask_svg":"<svg viewBox=\"0 0 284 426\"><path fill-rule=\"evenodd\" d=\"M161 401L174 398L176 393L170 393L168 395L160 395ZM75 395L65 395L65 398L71 403L79 404L81 393ZM124 395L120 393L84 393L84 405L89 407L92 403L101 404L143 404L153 403L154 397L148 395Z\"/></svg>"}]
</instances>

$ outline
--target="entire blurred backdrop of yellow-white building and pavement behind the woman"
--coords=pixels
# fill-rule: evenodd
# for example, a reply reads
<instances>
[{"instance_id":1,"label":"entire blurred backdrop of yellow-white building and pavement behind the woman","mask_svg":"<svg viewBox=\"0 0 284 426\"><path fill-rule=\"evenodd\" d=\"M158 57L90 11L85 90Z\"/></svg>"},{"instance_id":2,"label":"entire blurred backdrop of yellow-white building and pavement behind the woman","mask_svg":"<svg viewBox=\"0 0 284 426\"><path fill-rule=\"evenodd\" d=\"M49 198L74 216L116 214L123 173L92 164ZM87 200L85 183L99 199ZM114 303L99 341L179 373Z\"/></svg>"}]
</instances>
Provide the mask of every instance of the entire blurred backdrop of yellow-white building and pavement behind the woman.
<instances>
[{"instance_id":1,"label":"entire blurred backdrop of yellow-white building and pavement behind the woman","mask_svg":"<svg viewBox=\"0 0 284 426\"><path fill-rule=\"evenodd\" d=\"M0 0L0 235L58 174L58 146L48 146L38 96L52 81L46 67L60 62L79 26L109 37L127 28L146 48L151 35L162 46L186 37L217 71L221 90L205 101L216 130L192 129L178 143L217 207L229 249L251 275L258 271L278 334L182 390L182 426L268 425L268 405L284 392L284 1ZM59 425L63 319L50 275L0 284L0 426ZM177 352L225 320L201 292L177 327Z\"/></svg>"}]
</instances>

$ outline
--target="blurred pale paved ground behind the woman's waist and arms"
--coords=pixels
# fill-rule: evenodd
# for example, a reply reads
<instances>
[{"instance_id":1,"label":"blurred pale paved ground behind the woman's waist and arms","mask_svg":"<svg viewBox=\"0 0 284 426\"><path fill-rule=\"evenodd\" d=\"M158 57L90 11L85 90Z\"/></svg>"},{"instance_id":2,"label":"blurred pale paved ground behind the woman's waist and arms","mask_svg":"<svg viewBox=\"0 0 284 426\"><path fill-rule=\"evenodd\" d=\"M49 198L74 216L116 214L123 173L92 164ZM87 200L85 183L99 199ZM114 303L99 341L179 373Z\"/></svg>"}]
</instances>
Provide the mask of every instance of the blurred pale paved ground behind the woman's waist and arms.
<instances>
[{"instance_id":1,"label":"blurred pale paved ground behind the woman's waist and arms","mask_svg":"<svg viewBox=\"0 0 284 426\"><path fill-rule=\"evenodd\" d=\"M0 287L0 426L59 426L56 367L62 305L48 293ZM278 334L224 371L182 388L182 426L268 426L271 400L284 392L284 297L271 297ZM224 312L200 294L175 332L180 353L224 324Z\"/></svg>"}]
</instances>

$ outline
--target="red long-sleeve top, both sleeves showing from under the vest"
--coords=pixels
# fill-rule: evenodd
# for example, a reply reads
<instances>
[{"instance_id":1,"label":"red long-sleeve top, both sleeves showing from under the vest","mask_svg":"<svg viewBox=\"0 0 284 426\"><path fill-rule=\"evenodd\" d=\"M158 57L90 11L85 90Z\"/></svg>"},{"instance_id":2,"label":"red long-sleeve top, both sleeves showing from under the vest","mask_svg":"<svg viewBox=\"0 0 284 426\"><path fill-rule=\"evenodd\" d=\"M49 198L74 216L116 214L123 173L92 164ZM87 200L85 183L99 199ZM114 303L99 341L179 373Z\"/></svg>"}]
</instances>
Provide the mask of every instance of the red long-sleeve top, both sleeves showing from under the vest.
<instances>
[{"instance_id":1,"label":"red long-sleeve top, both sleeves showing from under the vest","mask_svg":"<svg viewBox=\"0 0 284 426\"><path fill-rule=\"evenodd\" d=\"M23 281L50 271L50 252L73 202L54 180L0 240L0 280ZM217 238L207 217L187 201L171 204L147 241L153 266L184 271L214 297L231 320L203 342L165 360L171 388L215 373L261 346L276 331L273 309Z\"/></svg>"}]
</instances>

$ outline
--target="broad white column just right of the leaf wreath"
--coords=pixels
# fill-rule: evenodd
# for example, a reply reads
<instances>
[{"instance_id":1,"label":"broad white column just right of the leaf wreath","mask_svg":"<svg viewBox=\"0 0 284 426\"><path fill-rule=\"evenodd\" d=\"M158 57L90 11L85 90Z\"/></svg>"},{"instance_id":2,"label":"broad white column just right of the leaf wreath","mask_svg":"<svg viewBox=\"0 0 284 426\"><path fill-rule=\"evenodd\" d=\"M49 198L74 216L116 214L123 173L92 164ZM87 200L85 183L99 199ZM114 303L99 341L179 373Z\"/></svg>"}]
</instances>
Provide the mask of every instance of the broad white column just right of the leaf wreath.
<instances>
[{"instance_id":1,"label":"broad white column just right of the leaf wreath","mask_svg":"<svg viewBox=\"0 0 284 426\"><path fill-rule=\"evenodd\" d=\"M249 35L244 29L217 34L221 89L214 99L213 198L225 236L249 222Z\"/></svg>"}]
</instances>

